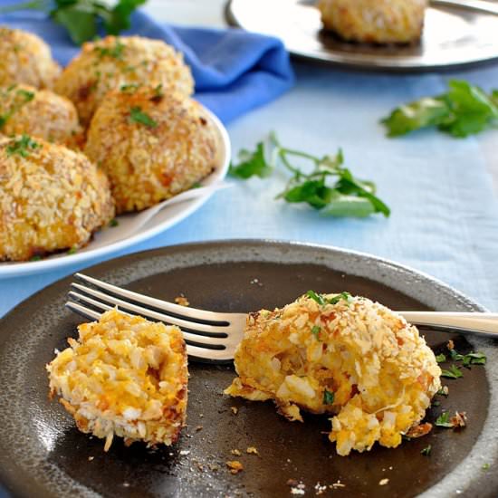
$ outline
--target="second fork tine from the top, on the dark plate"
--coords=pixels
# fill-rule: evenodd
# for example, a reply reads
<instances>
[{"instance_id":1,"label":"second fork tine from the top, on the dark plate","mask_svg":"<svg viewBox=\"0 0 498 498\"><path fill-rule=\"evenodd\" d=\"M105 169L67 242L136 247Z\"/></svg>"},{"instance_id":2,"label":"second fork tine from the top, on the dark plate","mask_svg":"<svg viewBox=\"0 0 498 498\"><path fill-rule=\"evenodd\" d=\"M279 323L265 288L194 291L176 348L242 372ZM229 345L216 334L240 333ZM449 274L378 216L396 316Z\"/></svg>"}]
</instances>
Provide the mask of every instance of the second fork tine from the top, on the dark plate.
<instances>
[{"instance_id":1,"label":"second fork tine from the top, on the dark plate","mask_svg":"<svg viewBox=\"0 0 498 498\"><path fill-rule=\"evenodd\" d=\"M217 326L217 325L206 325L205 323L196 323L194 321L182 320L180 318L172 317L164 313L159 313L158 311L148 310L147 308L143 308L141 306L138 306L137 304L132 304L131 302L123 301L119 298L115 298L103 292L95 291L94 289L81 285L80 283L72 283L71 286L74 289L77 289L78 291L84 292L85 294L90 294L91 296L97 298L99 301L103 302L108 306L112 305L110 306L111 308L114 306L119 306L120 308L123 308L125 310L134 311L144 317L152 318L158 321L165 321L167 323L177 325L178 327L181 328L189 329L192 331L218 334L218 336L223 335L223 337L227 337L226 332L229 323L227 323L225 326ZM72 291L69 293L69 295L70 296L73 295L78 299L82 299L82 296L79 292Z\"/></svg>"}]
</instances>

